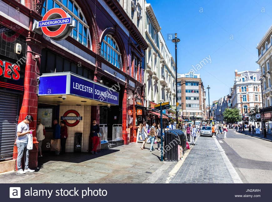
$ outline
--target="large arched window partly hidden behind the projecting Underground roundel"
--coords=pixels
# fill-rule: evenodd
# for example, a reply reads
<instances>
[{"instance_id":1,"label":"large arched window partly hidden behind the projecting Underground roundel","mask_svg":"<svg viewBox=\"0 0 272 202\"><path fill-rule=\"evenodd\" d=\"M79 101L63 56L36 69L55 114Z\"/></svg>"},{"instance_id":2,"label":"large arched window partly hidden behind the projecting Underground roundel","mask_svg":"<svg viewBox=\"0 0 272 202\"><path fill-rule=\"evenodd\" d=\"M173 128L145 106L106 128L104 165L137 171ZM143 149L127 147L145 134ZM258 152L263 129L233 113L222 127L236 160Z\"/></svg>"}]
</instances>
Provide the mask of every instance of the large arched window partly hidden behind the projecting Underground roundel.
<instances>
[{"instance_id":1,"label":"large arched window partly hidden behind the projecting Underground roundel","mask_svg":"<svg viewBox=\"0 0 272 202\"><path fill-rule=\"evenodd\" d=\"M79 6L72 0L45 0L43 3L42 16L52 8L62 8L73 18L75 28L73 28L70 36L84 46L91 48L92 43L90 40L89 26Z\"/></svg>"}]
</instances>

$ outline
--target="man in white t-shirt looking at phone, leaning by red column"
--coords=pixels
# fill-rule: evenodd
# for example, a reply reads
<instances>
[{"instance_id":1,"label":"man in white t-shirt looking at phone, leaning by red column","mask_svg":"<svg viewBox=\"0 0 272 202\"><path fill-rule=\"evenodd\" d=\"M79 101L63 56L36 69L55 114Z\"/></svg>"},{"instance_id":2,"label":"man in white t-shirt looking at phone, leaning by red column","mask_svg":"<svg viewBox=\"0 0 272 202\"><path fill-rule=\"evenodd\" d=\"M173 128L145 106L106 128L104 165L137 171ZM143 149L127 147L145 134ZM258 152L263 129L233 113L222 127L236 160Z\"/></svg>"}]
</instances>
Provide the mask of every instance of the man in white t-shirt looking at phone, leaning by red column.
<instances>
[{"instance_id":1,"label":"man in white t-shirt looking at phone, leaning by red column","mask_svg":"<svg viewBox=\"0 0 272 202\"><path fill-rule=\"evenodd\" d=\"M27 150L27 144L28 144L28 133L32 133L34 130L29 130L29 123L33 121L33 117L30 115L27 115L25 120L23 120L21 123L17 126L17 138L16 138L16 144L17 144L17 168L18 168L18 174L25 174L26 172L34 172L35 170L28 168L28 157L29 157L29 150ZM25 169L22 169L22 158L24 155L24 164Z\"/></svg>"}]
</instances>

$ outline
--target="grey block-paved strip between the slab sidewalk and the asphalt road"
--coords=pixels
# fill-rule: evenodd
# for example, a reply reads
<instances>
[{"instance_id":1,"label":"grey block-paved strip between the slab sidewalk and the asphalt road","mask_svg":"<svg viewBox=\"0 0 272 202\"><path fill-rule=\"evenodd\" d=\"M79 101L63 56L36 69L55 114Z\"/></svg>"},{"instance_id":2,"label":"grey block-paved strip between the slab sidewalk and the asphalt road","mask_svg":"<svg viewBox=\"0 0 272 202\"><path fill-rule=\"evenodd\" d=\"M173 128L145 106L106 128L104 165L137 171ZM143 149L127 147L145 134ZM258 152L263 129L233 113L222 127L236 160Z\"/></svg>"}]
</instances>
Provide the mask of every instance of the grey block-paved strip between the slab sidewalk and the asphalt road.
<instances>
[{"instance_id":1,"label":"grey block-paved strip between the slab sidewalk and the asphalt road","mask_svg":"<svg viewBox=\"0 0 272 202\"><path fill-rule=\"evenodd\" d=\"M216 141L211 137L198 137L169 183L242 183Z\"/></svg>"}]
</instances>

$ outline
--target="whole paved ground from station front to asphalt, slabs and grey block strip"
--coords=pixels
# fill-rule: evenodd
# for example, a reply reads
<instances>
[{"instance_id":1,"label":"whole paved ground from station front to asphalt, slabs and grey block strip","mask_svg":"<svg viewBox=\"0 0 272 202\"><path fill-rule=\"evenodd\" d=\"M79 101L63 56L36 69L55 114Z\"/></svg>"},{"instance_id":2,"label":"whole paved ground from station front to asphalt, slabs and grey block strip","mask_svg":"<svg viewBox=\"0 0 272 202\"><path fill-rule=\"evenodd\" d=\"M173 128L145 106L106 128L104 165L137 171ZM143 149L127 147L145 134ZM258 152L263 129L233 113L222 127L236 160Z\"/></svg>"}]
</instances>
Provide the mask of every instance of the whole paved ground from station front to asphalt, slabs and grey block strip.
<instances>
[{"instance_id":1,"label":"whole paved ground from station front to asphalt, slabs and grey block strip","mask_svg":"<svg viewBox=\"0 0 272 202\"><path fill-rule=\"evenodd\" d=\"M161 163L157 144L153 152L140 147L132 143L94 155L44 153L35 172L2 174L0 183L242 183L216 138L197 137L179 162Z\"/></svg>"}]
</instances>

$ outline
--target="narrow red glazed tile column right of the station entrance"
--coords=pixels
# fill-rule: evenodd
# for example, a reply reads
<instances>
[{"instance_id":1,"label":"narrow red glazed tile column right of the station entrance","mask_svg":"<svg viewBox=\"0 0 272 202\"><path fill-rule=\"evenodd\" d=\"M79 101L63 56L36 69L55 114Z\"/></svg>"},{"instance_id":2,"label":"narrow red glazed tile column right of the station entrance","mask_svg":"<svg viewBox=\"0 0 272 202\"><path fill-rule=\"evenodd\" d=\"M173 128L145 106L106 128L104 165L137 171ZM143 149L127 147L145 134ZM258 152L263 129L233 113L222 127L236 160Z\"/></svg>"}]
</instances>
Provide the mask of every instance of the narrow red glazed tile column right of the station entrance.
<instances>
[{"instance_id":1,"label":"narrow red glazed tile column right of the station entrance","mask_svg":"<svg viewBox=\"0 0 272 202\"><path fill-rule=\"evenodd\" d=\"M128 106L127 106L127 83L125 85L125 90L124 90L124 96L123 96L123 101L122 101L122 137L124 140L124 144L128 145L129 144L129 137L128 137L128 132L127 132L127 117L128 117Z\"/></svg>"}]
</instances>

